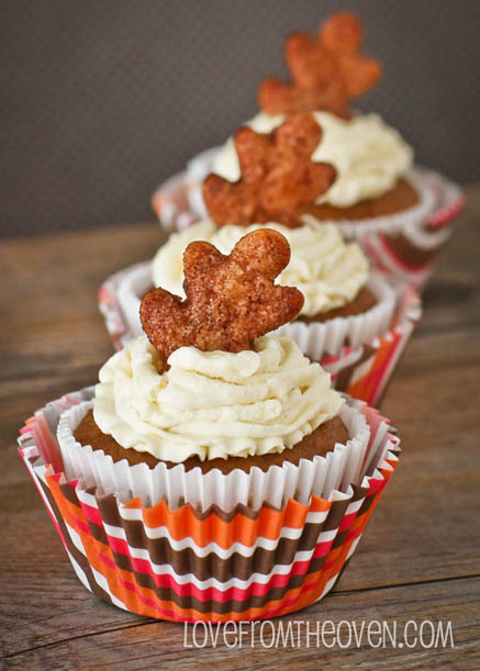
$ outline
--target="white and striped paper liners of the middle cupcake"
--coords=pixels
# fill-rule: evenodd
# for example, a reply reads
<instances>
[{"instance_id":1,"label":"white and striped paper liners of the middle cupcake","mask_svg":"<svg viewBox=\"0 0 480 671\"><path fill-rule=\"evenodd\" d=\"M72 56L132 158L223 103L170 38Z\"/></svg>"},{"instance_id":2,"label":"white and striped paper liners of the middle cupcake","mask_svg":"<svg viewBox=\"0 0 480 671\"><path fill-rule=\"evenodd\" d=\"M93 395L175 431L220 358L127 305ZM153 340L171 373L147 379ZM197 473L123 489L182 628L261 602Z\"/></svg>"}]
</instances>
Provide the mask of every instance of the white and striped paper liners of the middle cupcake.
<instances>
[{"instance_id":1,"label":"white and striped paper liners of the middle cupcake","mask_svg":"<svg viewBox=\"0 0 480 671\"><path fill-rule=\"evenodd\" d=\"M100 311L116 349L143 333L138 311L141 297L152 288L150 265L125 268L100 288ZM278 334L293 338L319 361L336 389L375 405L420 320L421 302L413 289L391 286L380 275L372 275L368 286L379 299L368 312L326 323L293 322Z\"/></svg>"}]
</instances>

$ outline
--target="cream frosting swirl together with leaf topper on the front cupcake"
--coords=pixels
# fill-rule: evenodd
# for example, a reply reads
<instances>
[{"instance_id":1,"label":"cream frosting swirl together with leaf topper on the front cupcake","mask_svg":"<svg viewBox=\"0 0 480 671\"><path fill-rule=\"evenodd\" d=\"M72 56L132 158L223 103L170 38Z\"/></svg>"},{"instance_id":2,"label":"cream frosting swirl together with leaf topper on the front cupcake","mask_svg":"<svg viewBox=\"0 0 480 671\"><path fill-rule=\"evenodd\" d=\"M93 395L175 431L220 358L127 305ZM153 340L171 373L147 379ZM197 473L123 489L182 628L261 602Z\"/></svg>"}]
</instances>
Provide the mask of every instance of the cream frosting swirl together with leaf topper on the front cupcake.
<instances>
[{"instance_id":1,"label":"cream frosting swirl together with leaf topper on the front cupcake","mask_svg":"<svg viewBox=\"0 0 480 671\"><path fill-rule=\"evenodd\" d=\"M100 370L99 428L124 448L181 462L281 452L337 415L344 401L330 374L292 340L267 334L303 302L297 289L274 283L288 260L286 238L265 228L228 256L190 244L187 299L148 292L147 335Z\"/></svg>"}]
</instances>

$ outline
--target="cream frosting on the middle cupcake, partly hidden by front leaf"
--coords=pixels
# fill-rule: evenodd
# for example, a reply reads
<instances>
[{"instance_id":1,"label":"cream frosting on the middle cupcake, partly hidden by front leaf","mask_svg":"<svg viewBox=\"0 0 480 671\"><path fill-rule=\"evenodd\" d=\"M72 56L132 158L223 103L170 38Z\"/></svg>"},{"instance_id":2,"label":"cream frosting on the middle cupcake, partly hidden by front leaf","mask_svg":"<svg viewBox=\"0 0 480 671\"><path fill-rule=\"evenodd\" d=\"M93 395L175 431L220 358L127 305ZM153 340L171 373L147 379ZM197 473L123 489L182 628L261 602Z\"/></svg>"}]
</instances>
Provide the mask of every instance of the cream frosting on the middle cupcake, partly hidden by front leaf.
<instances>
[{"instance_id":1,"label":"cream frosting on the middle cupcake, partly hidden by front leaf","mask_svg":"<svg viewBox=\"0 0 480 671\"><path fill-rule=\"evenodd\" d=\"M303 219L305 223L299 228L276 223L220 228L211 221L194 224L170 235L158 249L152 266L154 284L185 298L183 251L187 245L206 241L222 254L230 254L244 235L267 227L284 235L290 244L290 262L278 283L300 289L305 299L301 314L312 316L342 307L351 302L367 282L367 257L358 243L345 243L334 224L322 224L310 215Z\"/></svg>"}]
</instances>

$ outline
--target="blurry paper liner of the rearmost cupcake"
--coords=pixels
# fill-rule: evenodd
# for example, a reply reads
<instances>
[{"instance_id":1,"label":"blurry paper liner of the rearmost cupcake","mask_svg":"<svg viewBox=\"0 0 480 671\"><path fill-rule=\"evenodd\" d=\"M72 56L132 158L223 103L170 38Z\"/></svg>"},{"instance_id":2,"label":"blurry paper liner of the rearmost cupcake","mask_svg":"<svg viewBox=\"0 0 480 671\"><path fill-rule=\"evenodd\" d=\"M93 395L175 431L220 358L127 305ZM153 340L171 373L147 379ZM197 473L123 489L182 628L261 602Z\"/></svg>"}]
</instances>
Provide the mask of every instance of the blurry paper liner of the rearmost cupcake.
<instances>
[{"instance_id":1,"label":"blurry paper liner of the rearmost cupcake","mask_svg":"<svg viewBox=\"0 0 480 671\"><path fill-rule=\"evenodd\" d=\"M153 195L152 205L165 231L183 231L208 216L201 182L217 150L213 147L199 154L187 170L164 182ZM418 192L414 206L387 216L335 223L346 238L361 244L378 270L422 289L453 233L465 198L457 184L433 170L415 167L406 177Z\"/></svg>"}]
</instances>

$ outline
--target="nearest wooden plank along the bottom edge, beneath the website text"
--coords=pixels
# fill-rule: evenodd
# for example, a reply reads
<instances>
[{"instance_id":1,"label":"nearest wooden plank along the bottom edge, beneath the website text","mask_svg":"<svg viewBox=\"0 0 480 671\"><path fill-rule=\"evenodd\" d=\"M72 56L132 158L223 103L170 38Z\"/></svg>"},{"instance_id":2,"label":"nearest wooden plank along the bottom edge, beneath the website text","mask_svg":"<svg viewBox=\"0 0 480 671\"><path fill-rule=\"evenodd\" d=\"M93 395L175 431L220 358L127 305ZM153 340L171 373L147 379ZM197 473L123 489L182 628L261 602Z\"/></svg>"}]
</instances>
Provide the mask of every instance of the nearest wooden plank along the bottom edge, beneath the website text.
<instances>
[{"instance_id":1,"label":"nearest wooden plank along the bottom edge, beneath the website text","mask_svg":"<svg viewBox=\"0 0 480 671\"><path fill-rule=\"evenodd\" d=\"M177 669L179 663L186 669L203 669L212 663L221 669L271 669L278 667L280 659L282 668L313 669L317 668L321 660L322 669L351 668L350 664L367 669L375 666L375 669L386 670L422 669L433 664L435 668L444 669L476 669L480 663L479 599L478 579L457 579L446 582L440 594L435 582L417 584L414 589L406 585L370 592L335 592L301 613L281 618L284 625L290 620L302 623L293 625L293 634L286 638L284 648L281 644L280 648L264 647L272 642L271 628L265 628L260 636L257 626L253 636L245 634L243 649L228 648L222 638L223 633L215 649L211 640L208 640L204 648L186 648L185 642L192 646L192 629L191 627L187 629L186 636L181 624L142 618L135 622L129 615L124 615L122 627L119 627L111 619L110 612L113 607L107 605L101 608L105 622L103 630L89 631L86 635L81 629L77 629L75 634L58 626L62 619L55 610L53 618L57 626L58 639L48 644L37 641L32 647L29 647L29 641L21 641L16 648L8 649L5 661L10 669L54 668L60 660L63 668L88 669L93 667L104 669L114 664L121 666L122 669ZM58 602L54 601L54 605L58 607ZM94 613L90 612L90 615ZM309 623L311 633L316 633L317 623L321 631L326 619L335 625L345 619L355 622L358 633L362 622L366 623L366 627L371 622L387 622L390 630L393 630L395 626L393 623L397 623L398 641L402 644L404 627L409 620L417 623L417 627L425 619L434 623L435 626L442 622L445 628L450 622L455 648L451 649L450 639L447 639L446 648L423 649L414 638L414 630L410 625L406 641L412 646L411 649L404 645L393 648L390 642L384 648L370 647L366 635L360 639L358 648L354 644L353 647L342 649L342 646L348 642L345 624L339 629L341 645L336 644L328 649L323 646L320 637L320 645L316 648L316 636L314 636L309 638L311 647L306 647L305 623ZM279 619L275 620L277 625ZM328 625L327 627L330 629ZM245 628L245 633L249 629ZM427 631L429 633L429 628L425 628L425 641L429 645L431 636L428 634L427 637ZM199 642L203 640L202 631L199 630ZM232 645L234 640L232 634L226 636L228 644ZM335 642L331 636L326 636L325 640L327 645ZM372 636L371 640L377 645L379 639ZM388 638L386 640L390 641Z\"/></svg>"}]
</instances>

